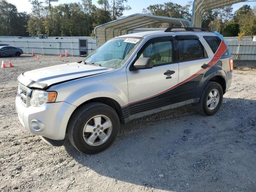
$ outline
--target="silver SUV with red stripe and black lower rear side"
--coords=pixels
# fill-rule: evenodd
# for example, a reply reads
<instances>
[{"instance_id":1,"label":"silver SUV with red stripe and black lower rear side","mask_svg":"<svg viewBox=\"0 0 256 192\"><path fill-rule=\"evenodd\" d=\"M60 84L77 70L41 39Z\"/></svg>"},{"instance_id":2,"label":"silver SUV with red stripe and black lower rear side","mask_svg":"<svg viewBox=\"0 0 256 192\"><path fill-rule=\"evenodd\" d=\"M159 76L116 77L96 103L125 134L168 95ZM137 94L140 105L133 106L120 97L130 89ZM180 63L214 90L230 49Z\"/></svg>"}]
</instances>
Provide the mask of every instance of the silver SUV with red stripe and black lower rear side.
<instances>
[{"instance_id":1,"label":"silver SUV with red stripe and black lower rear side","mask_svg":"<svg viewBox=\"0 0 256 192\"><path fill-rule=\"evenodd\" d=\"M24 72L16 109L22 125L60 146L66 134L82 153L108 148L120 124L193 104L215 114L232 81L221 35L167 28L112 38L85 60Z\"/></svg>"}]
</instances>

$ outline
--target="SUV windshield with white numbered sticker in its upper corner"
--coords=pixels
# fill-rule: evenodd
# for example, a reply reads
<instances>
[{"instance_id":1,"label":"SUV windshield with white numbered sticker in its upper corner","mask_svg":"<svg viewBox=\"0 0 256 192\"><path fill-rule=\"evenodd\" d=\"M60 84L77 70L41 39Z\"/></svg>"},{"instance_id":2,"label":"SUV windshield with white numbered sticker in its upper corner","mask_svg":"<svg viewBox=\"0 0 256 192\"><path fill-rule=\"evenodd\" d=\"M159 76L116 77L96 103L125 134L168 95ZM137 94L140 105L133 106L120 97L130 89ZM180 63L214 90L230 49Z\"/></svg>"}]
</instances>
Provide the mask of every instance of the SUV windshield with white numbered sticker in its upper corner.
<instances>
[{"instance_id":1,"label":"SUV windshield with white numbered sticker in its upper corner","mask_svg":"<svg viewBox=\"0 0 256 192\"><path fill-rule=\"evenodd\" d=\"M98 64L102 67L119 68L126 62L140 40L141 38L137 37L111 39L89 55L84 62Z\"/></svg>"}]
</instances>

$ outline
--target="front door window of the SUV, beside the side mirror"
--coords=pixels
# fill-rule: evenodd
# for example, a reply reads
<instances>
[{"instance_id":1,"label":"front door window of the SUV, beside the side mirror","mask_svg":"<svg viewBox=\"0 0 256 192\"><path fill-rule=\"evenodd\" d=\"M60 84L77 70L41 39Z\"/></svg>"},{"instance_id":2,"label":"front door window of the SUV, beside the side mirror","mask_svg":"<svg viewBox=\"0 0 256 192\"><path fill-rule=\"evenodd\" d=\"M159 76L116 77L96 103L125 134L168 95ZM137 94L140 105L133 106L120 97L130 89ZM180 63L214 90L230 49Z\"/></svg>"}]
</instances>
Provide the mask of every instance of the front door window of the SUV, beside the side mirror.
<instances>
[{"instance_id":1,"label":"front door window of the SUV, beside the side mirror","mask_svg":"<svg viewBox=\"0 0 256 192\"><path fill-rule=\"evenodd\" d=\"M139 58L142 57L152 58L153 66L173 62L172 41L150 43L140 54Z\"/></svg>"}]
</instances>

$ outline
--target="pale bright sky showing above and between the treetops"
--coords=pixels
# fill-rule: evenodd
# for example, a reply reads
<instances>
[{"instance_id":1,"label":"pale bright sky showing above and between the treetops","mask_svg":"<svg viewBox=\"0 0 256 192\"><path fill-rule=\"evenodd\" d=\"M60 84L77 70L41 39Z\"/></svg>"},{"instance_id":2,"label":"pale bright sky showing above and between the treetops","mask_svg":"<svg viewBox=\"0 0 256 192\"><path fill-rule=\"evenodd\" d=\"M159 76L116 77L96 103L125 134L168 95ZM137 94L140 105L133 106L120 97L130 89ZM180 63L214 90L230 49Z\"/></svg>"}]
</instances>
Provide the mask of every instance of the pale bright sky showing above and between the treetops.
<instances>
[{"instance_id":1,"label":"pale bright sky showing above and between the treetops","mask_svg":"<svg viewBox=\"0 0 256 192\"><path fill-rule=\"evenodd\" d=\"M15 4L19 12L31 12L31 4L28 0L7 0L8 2ZM44 0L42 0L44 1ZM111 1L111 0L110 0ZM147 8L150 4L162 4L164 2L173 2L180 5L185 5L187 0L128 0L128 5L132 8L129 11L124 12L124 16L128 16L134 13L142 13L143 8ZM53 2L53 5L62 4L62 3L70 3L70 2L80 2L80 0L59 0L58 2ZM93 4L97 4L97 0L92 0ZM248 4L251 7L256 6L256 2L242 2L233 5L234 11L238 10L244 4ZM192 7L191 7L192 9Z\"/></svg>"}]
</instances>

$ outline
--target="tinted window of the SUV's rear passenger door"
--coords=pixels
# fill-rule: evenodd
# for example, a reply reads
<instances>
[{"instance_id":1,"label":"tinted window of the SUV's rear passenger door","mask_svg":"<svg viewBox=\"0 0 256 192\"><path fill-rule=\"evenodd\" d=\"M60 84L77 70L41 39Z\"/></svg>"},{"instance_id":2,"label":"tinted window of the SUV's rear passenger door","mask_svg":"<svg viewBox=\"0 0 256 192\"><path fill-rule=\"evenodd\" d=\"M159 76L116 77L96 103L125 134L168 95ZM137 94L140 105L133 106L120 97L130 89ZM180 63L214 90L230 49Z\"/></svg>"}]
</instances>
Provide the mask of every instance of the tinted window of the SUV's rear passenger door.
<instances>
[{"instance_id":1,"label":"tinted window of the SUV's rear passenger door","mask_svg":"<svg viewBox=\"0 0 256 192\"><path fill-rule=\"evenodd\" d=\"M207 57L203 45L198 39L178 40L179 62L192 61Z\"/></svg>"}]
</instances>

